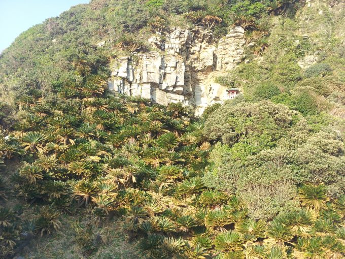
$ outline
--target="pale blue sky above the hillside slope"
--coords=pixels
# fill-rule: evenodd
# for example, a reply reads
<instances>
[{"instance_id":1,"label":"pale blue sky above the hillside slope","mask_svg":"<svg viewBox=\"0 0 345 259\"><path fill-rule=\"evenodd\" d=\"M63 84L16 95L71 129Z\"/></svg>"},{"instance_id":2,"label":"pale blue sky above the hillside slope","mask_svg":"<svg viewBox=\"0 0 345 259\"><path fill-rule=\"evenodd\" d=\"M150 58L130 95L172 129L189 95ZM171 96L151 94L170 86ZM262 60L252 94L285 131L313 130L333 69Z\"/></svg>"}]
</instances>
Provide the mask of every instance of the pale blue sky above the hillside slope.
<instances>
[{"instance_id":1,"label":"pale blue sky above the hillside slope","mask_svg":"<svg viewBox=\"0 0 345 259\"><path fill-rule=\"evenodd\" d=\"M0 53L25 30L89 0L0 0Z\"/></svg>"}]
</instances>

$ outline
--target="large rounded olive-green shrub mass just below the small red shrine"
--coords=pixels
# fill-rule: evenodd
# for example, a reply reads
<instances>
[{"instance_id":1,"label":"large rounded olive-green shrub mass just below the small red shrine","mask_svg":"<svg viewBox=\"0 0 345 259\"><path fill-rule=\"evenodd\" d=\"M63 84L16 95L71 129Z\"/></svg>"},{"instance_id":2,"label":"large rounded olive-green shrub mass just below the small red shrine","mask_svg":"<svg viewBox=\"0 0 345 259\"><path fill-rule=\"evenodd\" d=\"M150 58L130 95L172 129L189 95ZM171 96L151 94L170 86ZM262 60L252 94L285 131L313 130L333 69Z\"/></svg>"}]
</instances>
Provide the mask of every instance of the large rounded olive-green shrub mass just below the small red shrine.
<instances>
[{"instance_id":1,"label":"large rounded olive-green shrub mass just below the small red shrine","mask_svg":"<svg viewBox=\"0 0 345 259\"><path fill-rule=\"evenodd\" d=\"M303 104L299 107L308 107ZM312 128L318 129L267 101L218 108L206 119L204 134L223 145L210 154L205 185L235 193L252 217L266 219L296 208L302 182L325 183L330 195L339 195L345 184L343 143Z\"/></svg>"}]
</instances>

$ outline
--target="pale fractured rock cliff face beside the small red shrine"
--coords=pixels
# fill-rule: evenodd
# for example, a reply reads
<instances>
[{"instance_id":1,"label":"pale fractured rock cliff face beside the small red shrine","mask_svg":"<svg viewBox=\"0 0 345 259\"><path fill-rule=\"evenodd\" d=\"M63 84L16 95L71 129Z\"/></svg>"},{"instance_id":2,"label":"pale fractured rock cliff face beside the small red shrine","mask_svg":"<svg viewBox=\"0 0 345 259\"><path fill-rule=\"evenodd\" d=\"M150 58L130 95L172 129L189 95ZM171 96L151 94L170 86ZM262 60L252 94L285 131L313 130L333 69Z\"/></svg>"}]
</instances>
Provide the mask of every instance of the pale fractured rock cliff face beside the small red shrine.
<instances>
[{"instance_id":1,"label":"pale fractured rock cliff face beside the small red shrine","mask_svg":"<svg viewBox=\"0 0 345 259\"><path fill-rule=\"evenodd\" d=\"M206 106L223 102L226 87L214 82L234 69L244 54L244 29L234 27L217 40L202 28L176 29L149 39L153 50L119 58L109 88L167 105L182 102L201 114Z\"/></svg>"}]
</instances>

